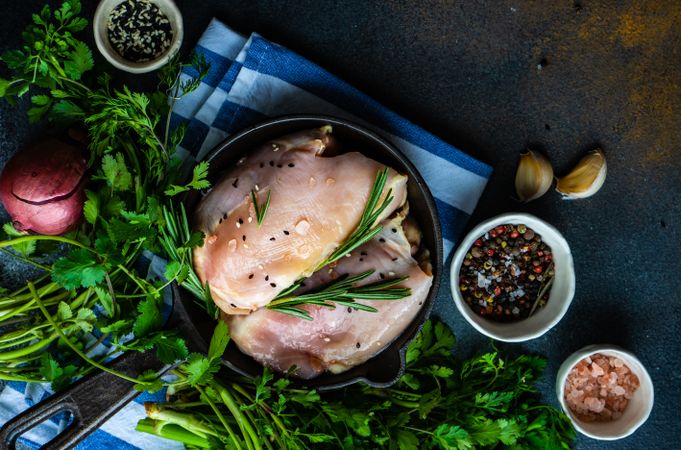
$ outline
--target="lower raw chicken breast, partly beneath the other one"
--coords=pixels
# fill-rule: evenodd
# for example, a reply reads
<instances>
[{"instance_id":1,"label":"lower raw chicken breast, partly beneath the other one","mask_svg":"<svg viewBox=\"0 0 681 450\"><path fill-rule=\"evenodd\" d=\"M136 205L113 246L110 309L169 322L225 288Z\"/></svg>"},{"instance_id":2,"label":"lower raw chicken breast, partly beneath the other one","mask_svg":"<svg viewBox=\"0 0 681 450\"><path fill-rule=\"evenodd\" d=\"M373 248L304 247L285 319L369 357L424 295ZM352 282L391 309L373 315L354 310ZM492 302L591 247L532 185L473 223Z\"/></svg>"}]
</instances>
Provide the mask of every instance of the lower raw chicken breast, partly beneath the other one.
<instances>
[{"instance_id":1,"label":"lower raw chicken breast, partly beneath the other one","mask_svg":"<svg viewBox=\"0 0 681 450\"><path fill-rule=\"evenodd\" d=\"M396 217L384 222L383 230L372 241L338 261L333 270L317 272L306 285L309 288L346 273L356 275L374 269L374 274L360 284L406 275L409 278L400 286L411 288L410 297L362 301L378 312L302 306L312 321L266 308L247 316L225 316L232 340L242 352L279 372L295 365L296 376L305 379L325 370L340 373L375 356L414 319L432 284L432 274L425 273L411 255L401 220Z\"/></svg>"}]
</instances>

